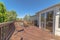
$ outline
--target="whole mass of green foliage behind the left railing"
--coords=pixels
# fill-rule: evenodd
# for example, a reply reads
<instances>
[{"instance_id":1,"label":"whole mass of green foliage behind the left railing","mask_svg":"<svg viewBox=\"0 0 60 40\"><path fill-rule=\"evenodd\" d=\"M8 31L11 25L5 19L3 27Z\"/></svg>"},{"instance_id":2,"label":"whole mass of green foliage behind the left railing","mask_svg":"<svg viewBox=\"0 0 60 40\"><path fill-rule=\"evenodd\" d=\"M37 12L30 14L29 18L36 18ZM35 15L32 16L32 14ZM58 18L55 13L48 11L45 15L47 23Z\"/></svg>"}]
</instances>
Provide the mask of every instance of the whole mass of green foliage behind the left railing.
<instances>
[{"instance_id":1,"label":"whole mass of green foliage behind the left railing","mask_svg":"<svg viewBox=\"0 0 60 40\"><path fill-rule=\"evenodd\" d=\"M7 11L4 4L0 2L0 22L14 21L16 17L15 11Z\"/></svg>"}]
</instances>

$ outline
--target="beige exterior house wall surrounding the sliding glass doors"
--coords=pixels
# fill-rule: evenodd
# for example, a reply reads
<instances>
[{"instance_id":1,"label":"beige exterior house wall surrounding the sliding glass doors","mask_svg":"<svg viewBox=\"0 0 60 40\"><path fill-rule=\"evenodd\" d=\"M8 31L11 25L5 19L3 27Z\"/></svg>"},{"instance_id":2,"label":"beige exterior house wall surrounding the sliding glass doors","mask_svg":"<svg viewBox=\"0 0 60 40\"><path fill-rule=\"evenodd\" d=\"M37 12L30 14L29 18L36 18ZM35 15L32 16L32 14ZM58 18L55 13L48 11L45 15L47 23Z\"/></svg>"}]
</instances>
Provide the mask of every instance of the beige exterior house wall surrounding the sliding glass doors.
<instances>
[{"instance_id":1,"label":"beige exterior house wall surrounding the sliding glass doors","mask_svg":"<svg viewBox=\"0 0 60 40\"><path fill-rule=\"evenodd\" d=\"M54 11L53 14L53 34L60 36L60 28L59 26L59 8L60 8L60 4L54 5L52 7L49 7L45 10L42 10L40 12L37 12L35 16L31 17L31 20L37 20L38 21L38 25L39 28L42 28L41 26L41 14L46 13L46 12L50 12L50 11ZM45 20L45 28L46 28L46 20Z\"/></svg>"}]
</instances>

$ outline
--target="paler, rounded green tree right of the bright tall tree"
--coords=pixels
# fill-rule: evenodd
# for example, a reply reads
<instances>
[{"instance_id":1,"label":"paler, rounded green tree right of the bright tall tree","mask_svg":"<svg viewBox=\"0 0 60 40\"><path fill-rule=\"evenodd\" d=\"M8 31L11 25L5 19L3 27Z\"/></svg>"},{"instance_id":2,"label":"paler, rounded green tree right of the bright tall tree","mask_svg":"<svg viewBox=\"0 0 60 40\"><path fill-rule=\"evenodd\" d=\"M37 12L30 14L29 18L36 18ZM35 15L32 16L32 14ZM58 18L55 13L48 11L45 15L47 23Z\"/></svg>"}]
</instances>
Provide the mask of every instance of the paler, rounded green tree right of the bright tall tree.
<instances>
[{"instance_id":1,"label":"paler, rounded green tree right of the bright tall tree","mask_svg":"<svg viewBox=\"0 0 60 40\"><path fill-rule=\"evenodd\" d=\"M5 21L14 21L16 20L17 14L15 11L7 11Z\"/></svg>"}]
</instances>

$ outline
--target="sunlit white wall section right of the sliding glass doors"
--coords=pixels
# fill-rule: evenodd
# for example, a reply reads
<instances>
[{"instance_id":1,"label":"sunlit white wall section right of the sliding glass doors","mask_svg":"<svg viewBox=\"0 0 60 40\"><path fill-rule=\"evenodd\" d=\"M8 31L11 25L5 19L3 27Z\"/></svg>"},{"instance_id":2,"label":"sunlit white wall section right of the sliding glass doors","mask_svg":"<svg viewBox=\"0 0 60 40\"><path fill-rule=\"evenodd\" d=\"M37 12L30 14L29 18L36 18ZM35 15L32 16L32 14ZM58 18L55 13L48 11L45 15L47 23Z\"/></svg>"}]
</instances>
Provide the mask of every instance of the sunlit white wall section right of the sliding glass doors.
<instances>
[{"instance_id":1,"label":"sunlit white wall section right of the sliding glass doors","mask_svg":"<svg viewBox=\"0 0 60 40\"><path fill-rule=\"evenodd\" d=\"M57 7L56 9L55 9L55 13L56 13L56 15L55 15L55 35L58 35L58 36L60 36L60 28L59 28L59 8L60 7Z\"/></svg>"}]
</instances>

